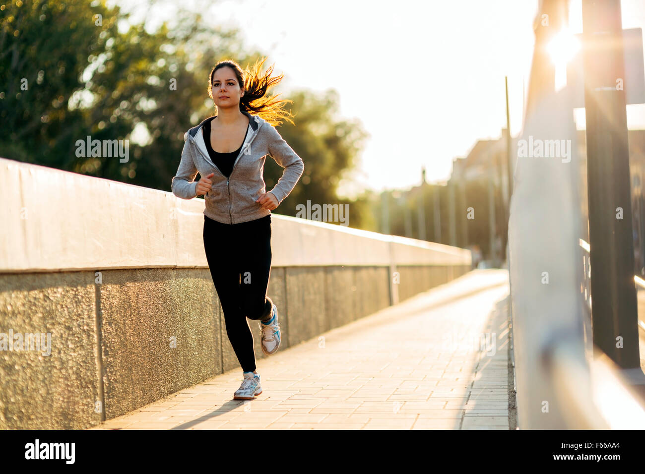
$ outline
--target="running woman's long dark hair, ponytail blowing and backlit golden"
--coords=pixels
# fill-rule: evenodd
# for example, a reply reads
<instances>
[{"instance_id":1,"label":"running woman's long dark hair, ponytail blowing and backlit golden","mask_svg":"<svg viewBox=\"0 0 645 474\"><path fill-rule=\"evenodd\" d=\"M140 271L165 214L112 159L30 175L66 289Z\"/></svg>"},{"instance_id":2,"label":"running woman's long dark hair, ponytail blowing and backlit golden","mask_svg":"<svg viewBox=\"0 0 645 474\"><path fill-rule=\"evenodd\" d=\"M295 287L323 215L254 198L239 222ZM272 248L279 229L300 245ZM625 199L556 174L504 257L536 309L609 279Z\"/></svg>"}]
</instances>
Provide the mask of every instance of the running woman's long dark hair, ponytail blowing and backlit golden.
<instances>
[{"instance_id":1,"label":"running woman's long dark hair, ponytail blowing and backlit golden","mask_svg":"<svg viewBox=\"0 0 645 474\"><path fill-rule=\"evenodd\" d=\"M255 61L255 64L250 69L247 67L246 70L242 70L239 64L230 59L219 61L219 63L215 64L208 77L208 97L213 99L213 75L215 71L228 66L235 72L237 83L244 89L244 95L240 98L240 110L242 112L259 115L273 126L281 124L282 120L293 124L291 119L293 115L283 108L286 103L293 103L293 101L278 99L277 96L280 94L266 97L268 89L279 83L284 74L271 77L273 65L262 74L260 70L264 61L266 61L266 57L262 61ZM217 112L217 106L215 106L215 111Z\"/></svg>"}]
</instances>

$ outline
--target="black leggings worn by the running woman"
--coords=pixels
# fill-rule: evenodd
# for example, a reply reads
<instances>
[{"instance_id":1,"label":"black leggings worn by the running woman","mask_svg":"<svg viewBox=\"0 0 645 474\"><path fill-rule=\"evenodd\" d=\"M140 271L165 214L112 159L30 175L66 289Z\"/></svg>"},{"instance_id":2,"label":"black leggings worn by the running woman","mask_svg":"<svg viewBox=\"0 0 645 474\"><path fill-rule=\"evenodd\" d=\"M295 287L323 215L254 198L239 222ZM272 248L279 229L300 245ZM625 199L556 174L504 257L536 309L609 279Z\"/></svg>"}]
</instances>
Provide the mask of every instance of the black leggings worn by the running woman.
<instances>
[{"instance_id":1,"label":"black leggings worn by the running woman","mask_svg":"<svg viewBox=\"0 0 645 474\"><path fill-rule=\"evenodd\" d=\"M271 273L271 215L223 224L204 215L204 250L226 322L226 333L244 372L255 371L248 319L266 319Z\"/></svg>"}]
</instances>

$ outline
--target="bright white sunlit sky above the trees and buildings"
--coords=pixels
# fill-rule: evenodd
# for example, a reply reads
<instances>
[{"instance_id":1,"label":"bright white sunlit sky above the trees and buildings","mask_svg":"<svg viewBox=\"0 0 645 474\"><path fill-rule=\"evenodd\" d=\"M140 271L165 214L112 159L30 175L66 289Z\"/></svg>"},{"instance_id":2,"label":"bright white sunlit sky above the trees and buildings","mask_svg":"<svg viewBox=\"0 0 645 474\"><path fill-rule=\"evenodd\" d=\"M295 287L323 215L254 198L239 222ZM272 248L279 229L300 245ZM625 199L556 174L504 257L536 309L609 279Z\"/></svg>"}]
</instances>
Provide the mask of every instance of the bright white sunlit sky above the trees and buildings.
<instances>
[{"instance_id":1,"label":"bright white sunlit sky above the trees and buildings","mask_svg":"<svg viewBox=\"0 0 645 474\"><path fill-rule=\"evenodd\" d=\"M137 11L146 10L132 0L118 3L135 21ZM284 73L275 88L282 97L288 98L290 88L339 92L340 115L359 119L370 133L359 170L342 182L342 193L415 186L422 166L426 181L448 179L453 158L467 155L478 139L501 136L504 75L511 133L521 130L537 0L182 4L203 12L213 25L241 28L246 46L268 55L274 74ZM155 3L148 26L172 19L175 5ZM645 3L621 5L623 28L645 29ZM581 0L571 1L570 27L582 32ZM221 59L213 58L213 65ZM576 118L584 128L584 109ZM628 106L628 126L645 128L645 104Z\"/></svg>"}]
</instances>

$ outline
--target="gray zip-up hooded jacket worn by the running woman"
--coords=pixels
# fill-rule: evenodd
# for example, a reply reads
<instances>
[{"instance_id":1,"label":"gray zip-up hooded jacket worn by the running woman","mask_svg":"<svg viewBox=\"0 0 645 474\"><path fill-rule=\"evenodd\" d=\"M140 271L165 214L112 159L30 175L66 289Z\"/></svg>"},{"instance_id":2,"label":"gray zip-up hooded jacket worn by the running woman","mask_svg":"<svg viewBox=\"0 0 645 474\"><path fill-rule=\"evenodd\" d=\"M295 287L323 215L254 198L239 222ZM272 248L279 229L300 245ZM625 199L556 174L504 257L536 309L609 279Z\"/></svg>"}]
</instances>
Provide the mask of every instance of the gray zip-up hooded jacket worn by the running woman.
<instances>
[{"instance_id":1,"label":"gray zip-up hooded jacket worn by the running woman","mask_svg":"<svg viewBox=\"0 0 645 474\"><path fill-rule=\"evenodd\" d=\"M202 177L215 173L212 187L206 195L204 215L225 224L253 221L271 213L255 202L266 192L264 183L264 158L271 155L284 168L282 177L270 190L278 204L292 192L303 175L304 163L284 141L275 127L258 115L243 112L249 118L249 129L239 155L233 162L228 179L215 166L206 150L200 131L208 119L184 133L184 149L177 174L172 179L172 193L181 199L197 197L197 173Z\"/></svg>"}]
</instances>

